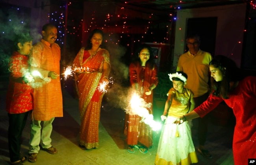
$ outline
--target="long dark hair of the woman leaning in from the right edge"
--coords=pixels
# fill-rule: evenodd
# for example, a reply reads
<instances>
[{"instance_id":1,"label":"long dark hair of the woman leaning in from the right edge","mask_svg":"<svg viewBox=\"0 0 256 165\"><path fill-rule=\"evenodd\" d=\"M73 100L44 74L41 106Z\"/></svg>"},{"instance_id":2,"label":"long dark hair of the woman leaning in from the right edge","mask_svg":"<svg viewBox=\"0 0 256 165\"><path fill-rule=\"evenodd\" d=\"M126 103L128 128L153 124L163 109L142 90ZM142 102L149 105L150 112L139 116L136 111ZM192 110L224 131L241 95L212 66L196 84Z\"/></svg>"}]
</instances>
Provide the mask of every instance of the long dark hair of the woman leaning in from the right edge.
<instances>
[{"instance_id":1,"label":"long dark hair of the woman leaning in from the right edge","mask_svg":"<svg viewBox=\"0 0 256 165\"><path fill-rule=\"evenodd\" d=\"M211 60L210 65L218 68L223 75L223 79L219 82L212 79L212 94L214 96L220 96L223 99L228 99L230 91L233 90L232 84L244 78L241 69L236 66L236 63L232 59L223 55L215 56L213 60Z\"/></svg>"}]
</instances>

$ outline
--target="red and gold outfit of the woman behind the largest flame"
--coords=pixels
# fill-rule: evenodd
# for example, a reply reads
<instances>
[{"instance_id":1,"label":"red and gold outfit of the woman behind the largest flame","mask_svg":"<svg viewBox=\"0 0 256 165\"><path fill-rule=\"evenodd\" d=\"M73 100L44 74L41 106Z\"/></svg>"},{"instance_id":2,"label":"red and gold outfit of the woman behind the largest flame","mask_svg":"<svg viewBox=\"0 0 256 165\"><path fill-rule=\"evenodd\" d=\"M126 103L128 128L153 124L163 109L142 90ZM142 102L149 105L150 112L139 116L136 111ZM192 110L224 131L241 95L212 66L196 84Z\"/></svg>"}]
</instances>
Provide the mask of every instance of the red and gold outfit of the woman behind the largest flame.
<instances>
[{"instance_id":1,"label":"red and gold outfit of the woman behind the largest flame","mask_svg":"<svg viewBox=\"0 0 256 165\"><path fill-rule=\"evenodd\" d=\"M153 91L150 95L145 94L145 90L154 83L158 84L157 67L154 65L153 69L146 66L143 68L140 63L131 63L129 67L130 83L138 83L138 90L141 97L146 103L152 103L153 105ZM153 114L153 106L147 108L149 114ZM137 145L141 143L147 148L151 148L153 143L152 128L141 121L141 117L138 115L126 114L124 135L127 136L128 145Z\"/></svg>"}]
</instances>

